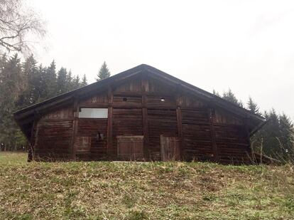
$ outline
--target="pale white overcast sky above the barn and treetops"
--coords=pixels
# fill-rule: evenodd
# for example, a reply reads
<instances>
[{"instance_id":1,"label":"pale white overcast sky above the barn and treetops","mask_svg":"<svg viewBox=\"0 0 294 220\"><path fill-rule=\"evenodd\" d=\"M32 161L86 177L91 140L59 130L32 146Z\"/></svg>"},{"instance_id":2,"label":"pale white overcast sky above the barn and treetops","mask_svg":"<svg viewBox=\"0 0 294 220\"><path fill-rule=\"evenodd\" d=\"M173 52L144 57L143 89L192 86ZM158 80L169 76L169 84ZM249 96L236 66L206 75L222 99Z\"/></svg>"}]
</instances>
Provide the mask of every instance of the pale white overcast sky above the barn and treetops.
<instances>
[{"instance_id":1,"label":"pale white overcast sky above the barn and treetops","mask_svg":"<svg viewBox=\"0 0 294 220\"><path fill-rule=\"evenodd\" d=\"M40 1L43 65L111 74L146 63L212 92L231 88L294 119L294 1Z\"/></svg>"}]
</instances>

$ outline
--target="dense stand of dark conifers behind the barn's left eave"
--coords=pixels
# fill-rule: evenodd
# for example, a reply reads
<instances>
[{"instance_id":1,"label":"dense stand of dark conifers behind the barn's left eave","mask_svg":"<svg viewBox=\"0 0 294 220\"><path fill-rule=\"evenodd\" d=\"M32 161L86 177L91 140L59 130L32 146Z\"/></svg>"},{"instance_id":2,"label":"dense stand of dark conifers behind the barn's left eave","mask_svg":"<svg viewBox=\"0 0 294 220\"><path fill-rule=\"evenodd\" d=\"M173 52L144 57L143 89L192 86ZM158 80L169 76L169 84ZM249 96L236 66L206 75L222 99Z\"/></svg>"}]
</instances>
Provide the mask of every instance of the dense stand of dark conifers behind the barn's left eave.
<instances>
[{"instance_id":1,"label":"dense stand of dark conifers behind the barn's left eave","mask_svg":"<svg viewBox=\"0 0 294 220\"><path fill-rule=\"evenodd\" d=\"M12 112L83 85L87 85L86 75L81 82L79 75L74 76L71 72L67 73L65 68L60 68L57 76L54 61L44 67L37 66L33 55L22 64L17 54L12 57L1 55L0 142L4 143L3 148L16 150L28 145L13 120Z\"/></svg>"}]
</instances>

